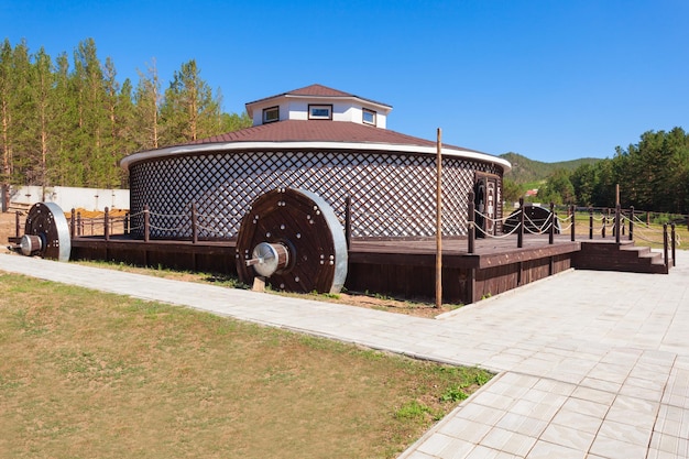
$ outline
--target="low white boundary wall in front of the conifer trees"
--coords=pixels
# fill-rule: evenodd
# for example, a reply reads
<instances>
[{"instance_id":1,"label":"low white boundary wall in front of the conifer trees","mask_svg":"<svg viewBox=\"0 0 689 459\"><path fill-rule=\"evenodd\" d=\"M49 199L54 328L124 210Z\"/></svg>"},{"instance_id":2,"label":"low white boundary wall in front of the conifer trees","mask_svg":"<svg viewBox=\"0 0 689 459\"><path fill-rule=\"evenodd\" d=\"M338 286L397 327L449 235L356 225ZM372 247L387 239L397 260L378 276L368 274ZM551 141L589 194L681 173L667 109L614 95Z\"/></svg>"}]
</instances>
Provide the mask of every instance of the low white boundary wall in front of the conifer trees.
<instances>
[{"instance_id":1,"label":"low white boundary wall in front of the conifer trees","mask_svg":"<svg viewBox=\"0 0 689 459\"><path fill-rule=\"evenodd\" d=\"M73 188L67 186L12 186L10 205L34 205L55 203L64 211L83 208L86 210L129 209L129 189Z\"/></svg>"}]
</instances>

